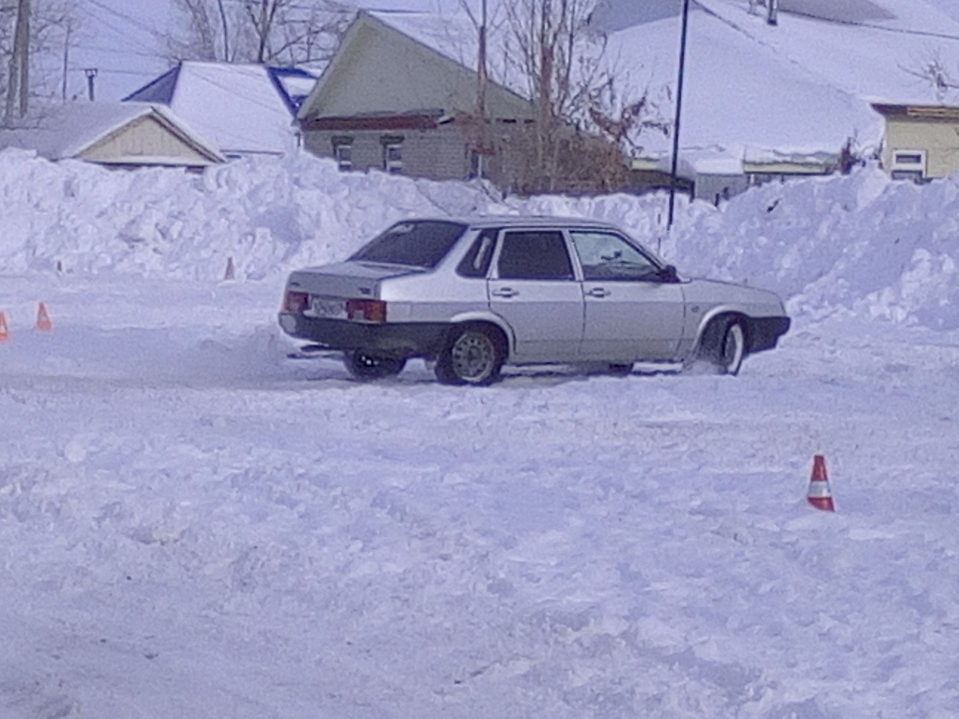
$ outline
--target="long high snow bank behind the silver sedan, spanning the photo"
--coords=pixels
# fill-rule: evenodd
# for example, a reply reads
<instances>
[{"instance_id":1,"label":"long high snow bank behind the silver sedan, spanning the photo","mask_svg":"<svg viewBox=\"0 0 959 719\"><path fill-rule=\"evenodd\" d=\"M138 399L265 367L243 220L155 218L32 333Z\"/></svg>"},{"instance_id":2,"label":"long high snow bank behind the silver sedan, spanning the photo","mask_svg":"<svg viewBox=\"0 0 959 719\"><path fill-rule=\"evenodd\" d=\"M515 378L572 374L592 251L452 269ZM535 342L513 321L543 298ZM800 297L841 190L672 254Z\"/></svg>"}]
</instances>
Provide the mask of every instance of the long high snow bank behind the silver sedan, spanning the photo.
<instances>
[{"instance_id":1,"label":"long high snow bank behind the silver sedan, spanning the photo","mask_svg":"<svg viewBox=\"0 0 959 719\"><path fill-rule=\"evenodd\" d=\"M959 180L853 176L766 185L723 207L684 200L672 236L664 195L497 197L479 183L341 174L309 155L232 163L202 175L110 172L0 153L0 262L13 273L112 271L222 277L226 258L258 280L341 259L415 215L558 214L609 220L690 274L777 290L793 313L837 310L959 327Z\"/></svg>"}]
</instances>

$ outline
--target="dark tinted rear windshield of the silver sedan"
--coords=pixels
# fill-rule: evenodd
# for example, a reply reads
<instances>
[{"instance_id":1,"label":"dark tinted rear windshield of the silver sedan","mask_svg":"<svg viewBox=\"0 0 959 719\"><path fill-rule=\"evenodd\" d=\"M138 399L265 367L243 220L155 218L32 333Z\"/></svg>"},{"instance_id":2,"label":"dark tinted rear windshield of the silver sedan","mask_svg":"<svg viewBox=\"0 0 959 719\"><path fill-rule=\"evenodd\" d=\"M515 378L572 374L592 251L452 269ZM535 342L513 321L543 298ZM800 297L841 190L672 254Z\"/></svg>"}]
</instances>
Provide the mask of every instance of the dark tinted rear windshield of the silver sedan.
<instances>
[{"instance_id":1,"label":"dark tinted rear windshield of the silver sedan","mask_svg":"<svg viewBox=\"0 0 959 719\"><path fill-rule=\"evenodd\" d=\"M465 230L464 224L442 220L400 222L366 244L350 260L433 268Z\"/></svg>"}]
</instances>

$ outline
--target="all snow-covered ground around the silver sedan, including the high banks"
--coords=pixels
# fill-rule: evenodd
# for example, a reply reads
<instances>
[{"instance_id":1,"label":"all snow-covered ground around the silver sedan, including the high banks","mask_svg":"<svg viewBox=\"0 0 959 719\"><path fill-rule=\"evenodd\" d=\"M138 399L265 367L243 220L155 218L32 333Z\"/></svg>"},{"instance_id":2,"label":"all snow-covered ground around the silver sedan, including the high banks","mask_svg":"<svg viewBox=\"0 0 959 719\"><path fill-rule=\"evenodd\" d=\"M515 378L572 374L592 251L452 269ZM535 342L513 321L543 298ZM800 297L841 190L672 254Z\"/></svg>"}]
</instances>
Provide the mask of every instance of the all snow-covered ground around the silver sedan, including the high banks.
<instances>
[{"instance_id":1,"label":"all snow-covered ground around the silver sedan, including the high banks","mask_svg":"<svg viewBox=\"0 0 959 719\"><path fill-rule=\"evenodd\" d=\"M956 181L684 206L670 261L790 298L738 378L489 388L288 359L284 273L410 214L655 246L662 198L8 152L0 203L0 719L959 715Z\"/></svg>"}]
</instances>

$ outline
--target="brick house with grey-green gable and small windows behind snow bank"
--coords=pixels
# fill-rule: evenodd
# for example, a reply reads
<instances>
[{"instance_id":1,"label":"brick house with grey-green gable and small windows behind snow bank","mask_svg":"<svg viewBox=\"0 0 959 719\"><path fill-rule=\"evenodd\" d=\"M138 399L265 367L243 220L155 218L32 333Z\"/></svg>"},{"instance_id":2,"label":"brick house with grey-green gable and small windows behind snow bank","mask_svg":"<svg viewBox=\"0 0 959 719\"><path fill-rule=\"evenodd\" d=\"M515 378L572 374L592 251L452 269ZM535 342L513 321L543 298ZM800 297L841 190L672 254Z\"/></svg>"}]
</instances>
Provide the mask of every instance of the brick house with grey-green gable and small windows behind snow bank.
<instances>
[{"instance_id":1,"label":"brick house with grey-green gable and small windows behind snow bank","mask_svg":"<svg viewBox=\"0 0 959 719\"><path fill-rule=\"evenodd\" d=\"M508 174L511 158L482 147L477 71L401 30L438 19L361 12L299 110L304 147L341 170L436 180ZM515 144L534 118L528 100L495 82L487 84L486 113L489 131ZM490 160L495 165L483 167Z\"/></svg>"}]
</instances>

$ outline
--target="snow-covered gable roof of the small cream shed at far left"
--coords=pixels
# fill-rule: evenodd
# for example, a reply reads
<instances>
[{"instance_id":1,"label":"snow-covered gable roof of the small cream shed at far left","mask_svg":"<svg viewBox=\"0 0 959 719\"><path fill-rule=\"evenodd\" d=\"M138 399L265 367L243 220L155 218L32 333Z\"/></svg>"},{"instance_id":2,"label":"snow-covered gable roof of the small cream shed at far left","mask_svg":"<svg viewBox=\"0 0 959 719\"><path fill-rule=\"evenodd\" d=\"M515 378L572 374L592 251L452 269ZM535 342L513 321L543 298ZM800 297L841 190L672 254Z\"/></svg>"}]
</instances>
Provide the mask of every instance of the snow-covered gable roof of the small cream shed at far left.
<instances>
[{"instance_id":1,"label":"snow-covered gable roof of the small cream shed at far left","mask_svg":"<svg viewBox=\"0 0 959 719\"><path fill-rule=\"evenodd\" d=\"M29 127L0 130L0 147L34 150L51 160L78 157L109 136L138 121L152 118L193 151L205 164L225 160L216 147L167 107L146 103L71 103L48 110ZM183 165L175 156L130 156L129 164ZM192 164L192 163L191 163Z\"/></svg>"}]
</instances>

